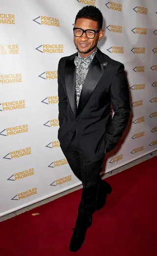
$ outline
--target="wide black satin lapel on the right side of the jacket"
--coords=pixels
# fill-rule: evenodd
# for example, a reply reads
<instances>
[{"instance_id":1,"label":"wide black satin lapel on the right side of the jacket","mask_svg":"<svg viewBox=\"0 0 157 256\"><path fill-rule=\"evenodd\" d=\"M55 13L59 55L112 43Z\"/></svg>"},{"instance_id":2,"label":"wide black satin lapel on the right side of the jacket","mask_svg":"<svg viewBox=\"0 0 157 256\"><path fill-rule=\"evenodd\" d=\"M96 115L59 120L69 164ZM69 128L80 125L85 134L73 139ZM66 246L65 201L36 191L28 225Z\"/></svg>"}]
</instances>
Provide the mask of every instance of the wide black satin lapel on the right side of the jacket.
<instances>
[{"instance_id":1,"label":"wide black satin lapel on the right side of the jacket","mask_svg":"<svg viewBox=\"0 0 157 256\"><path fill-rule=\"evenodd\" d=\"M105 66L94 57L82 86L77 115L82 111L105 71Z\"/></svg>"}]
</instances>

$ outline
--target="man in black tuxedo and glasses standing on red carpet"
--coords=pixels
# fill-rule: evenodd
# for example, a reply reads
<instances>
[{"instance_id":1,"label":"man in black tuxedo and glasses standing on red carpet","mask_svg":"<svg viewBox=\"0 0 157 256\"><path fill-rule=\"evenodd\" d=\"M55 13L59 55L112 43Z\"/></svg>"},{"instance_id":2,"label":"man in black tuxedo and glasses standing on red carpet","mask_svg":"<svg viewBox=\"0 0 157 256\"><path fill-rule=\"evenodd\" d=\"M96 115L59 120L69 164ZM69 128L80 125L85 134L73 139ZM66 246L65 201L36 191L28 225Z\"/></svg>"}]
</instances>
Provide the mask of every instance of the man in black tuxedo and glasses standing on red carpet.
<instances>
[{"instance_id":1,"label":"man in black tuxedo and glasses standing on red carpet","mask_svg":"<svg viewBox=\"0 0 157 256\"><path fill-rule=\"evenodd\" d=\"M103 16L94 6L79 10L74 26L78 52L58 64L60 147L83 190L70 242L76 252L84 242L92 214L105 205L111 187L100 177L105 153L127 126L130 99L124 65L97 48L104 35ZM112 102L114 117L110 115Z\"/></svg>"}]
</instances>

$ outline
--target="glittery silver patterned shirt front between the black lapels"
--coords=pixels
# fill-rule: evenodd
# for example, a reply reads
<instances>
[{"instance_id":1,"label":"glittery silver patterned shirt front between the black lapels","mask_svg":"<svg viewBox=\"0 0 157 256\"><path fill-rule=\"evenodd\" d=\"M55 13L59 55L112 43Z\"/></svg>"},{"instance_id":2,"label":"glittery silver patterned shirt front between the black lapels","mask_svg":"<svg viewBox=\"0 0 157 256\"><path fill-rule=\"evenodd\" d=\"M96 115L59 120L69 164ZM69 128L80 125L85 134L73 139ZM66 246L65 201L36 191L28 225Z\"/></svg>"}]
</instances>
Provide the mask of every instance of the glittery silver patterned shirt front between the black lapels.
<instances>
[{"instance_id":1,"label":"glittery silver patterned shirt front between the black lapels","mask_svg":"<svg viewBox=\"0 0 157 256\"><path fill-rule=\"evenodd\" d=\"M77 65L77 70L76 70L76 100L77 100L77 107L78 107L79 97L80 97L81 90L82 90L82 85L84 83L84 80L85 80L86 75L88 73L89 66L90 66L90 64L91 64L91 62L92 62L96 52L97 52L97 48L96 48L96 50L91 55L87 56L86 58L82 58L84 60L87 59L87 58L90 60L88 67L84 63L81 63L80 65ZM79 53L78 53L78 57L80 57Z\"/></svg>"}]
</instances>

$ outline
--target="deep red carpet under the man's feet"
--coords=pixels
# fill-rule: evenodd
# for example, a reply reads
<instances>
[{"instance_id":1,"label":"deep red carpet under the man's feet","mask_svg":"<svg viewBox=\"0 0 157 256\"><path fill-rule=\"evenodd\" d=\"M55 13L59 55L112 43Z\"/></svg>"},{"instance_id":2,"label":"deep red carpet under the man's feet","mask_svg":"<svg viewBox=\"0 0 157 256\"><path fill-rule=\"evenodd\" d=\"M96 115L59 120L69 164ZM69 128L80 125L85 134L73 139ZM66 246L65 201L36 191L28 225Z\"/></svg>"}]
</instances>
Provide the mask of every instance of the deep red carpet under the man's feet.
<instances>
[{"instance_id":1,"label":"deep red carpet under the man's feet","mask_svg":"<svg viewBox=\"0 0 157 256\"><path fill-rule=\"evenodd\" d=\"M81 190L1 222L0 255L157 256L157 157L106 181L113 191L78 252L69 242Z\"/></svg>"}]
</instances>

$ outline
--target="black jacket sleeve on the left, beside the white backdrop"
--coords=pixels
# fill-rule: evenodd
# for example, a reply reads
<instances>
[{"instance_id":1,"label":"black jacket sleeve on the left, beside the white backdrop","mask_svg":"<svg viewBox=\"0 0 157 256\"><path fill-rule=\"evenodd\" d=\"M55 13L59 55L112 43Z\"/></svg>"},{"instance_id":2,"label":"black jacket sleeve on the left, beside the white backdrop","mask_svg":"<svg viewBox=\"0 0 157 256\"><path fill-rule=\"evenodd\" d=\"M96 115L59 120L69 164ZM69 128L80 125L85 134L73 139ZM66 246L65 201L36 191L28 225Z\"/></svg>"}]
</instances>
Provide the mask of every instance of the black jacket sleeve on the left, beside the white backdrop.
<instances>
[{"instance_id":1,"label":"black jacket sleeve on the left, beside the white backdrop","mask_svg":"<svg viewBox=\"0 0 157 256\"><path fill-rule=\"evenodd\" d=\"M65 94L65 90L63 87L63 83L62 83L62 79L61 79L61 75L60 75L60 62L62 59L60 59L59 64L58 64L58 110L59 110L59 114L58 114L58 120L59 120L59 126L62 125L63 123L63 119L64 119L64 115L67 109L67 96Z\"/></svg>"}]
</instances>

